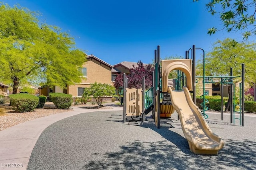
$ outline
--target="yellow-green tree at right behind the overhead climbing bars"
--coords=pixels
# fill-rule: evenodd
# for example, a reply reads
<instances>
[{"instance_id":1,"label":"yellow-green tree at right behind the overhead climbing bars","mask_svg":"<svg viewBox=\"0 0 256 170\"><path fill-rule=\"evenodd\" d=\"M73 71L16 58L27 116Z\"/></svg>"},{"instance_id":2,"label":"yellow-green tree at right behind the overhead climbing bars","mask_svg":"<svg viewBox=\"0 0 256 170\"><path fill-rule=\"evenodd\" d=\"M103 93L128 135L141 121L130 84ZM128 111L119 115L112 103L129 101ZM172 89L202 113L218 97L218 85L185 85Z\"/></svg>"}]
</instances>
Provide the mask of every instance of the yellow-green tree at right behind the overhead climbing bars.
<instances>
[{"instance_id":1,"label":"yellow-green tree at right behind the overhead climbing bars","mask_svg":"<svg viewBox=\"0 0 256 170\"><path fill-rule=\"evenodd\" d=\"M205 57L205 75L210 76L229 76L230 67L233 68L233 75L241 75L241 64L245 64L245 81L252 83L256 81L256 43L238 43L230 38L223 41L218 40L212 46L212 51ZM202 62L198 63L197 70L202 72ZM240 79L234 79L234 83ZM230 94L230 88L229 88ZM230 95L229 95L230 96ZM227 111L230 106L230 97Z\"/></svg>"}]
</instances>

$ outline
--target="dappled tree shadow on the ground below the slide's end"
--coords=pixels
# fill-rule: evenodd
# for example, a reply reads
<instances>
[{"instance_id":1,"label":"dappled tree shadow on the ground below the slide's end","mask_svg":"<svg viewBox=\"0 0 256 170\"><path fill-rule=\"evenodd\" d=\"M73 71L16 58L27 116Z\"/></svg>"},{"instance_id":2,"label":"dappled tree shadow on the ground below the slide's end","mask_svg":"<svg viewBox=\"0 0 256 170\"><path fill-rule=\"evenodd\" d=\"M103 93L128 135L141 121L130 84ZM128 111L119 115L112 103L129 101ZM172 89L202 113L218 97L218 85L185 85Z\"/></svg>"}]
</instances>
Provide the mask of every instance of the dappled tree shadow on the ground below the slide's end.
<instances>
[{"instance_id":1,"label":"dappled tree shadow on the ground below the slide's end","mask_svg":"<svg viewBox=\"0 0 256 170\"><path fill-rule=\"evenodd\" d=\"M226 140L216 156L187 154L164 140L134 141L120 146L118 152L107 152L100 161L90 161L82 168L105 169L255 169L256 142Z\"/></svg>"}]
</instances>

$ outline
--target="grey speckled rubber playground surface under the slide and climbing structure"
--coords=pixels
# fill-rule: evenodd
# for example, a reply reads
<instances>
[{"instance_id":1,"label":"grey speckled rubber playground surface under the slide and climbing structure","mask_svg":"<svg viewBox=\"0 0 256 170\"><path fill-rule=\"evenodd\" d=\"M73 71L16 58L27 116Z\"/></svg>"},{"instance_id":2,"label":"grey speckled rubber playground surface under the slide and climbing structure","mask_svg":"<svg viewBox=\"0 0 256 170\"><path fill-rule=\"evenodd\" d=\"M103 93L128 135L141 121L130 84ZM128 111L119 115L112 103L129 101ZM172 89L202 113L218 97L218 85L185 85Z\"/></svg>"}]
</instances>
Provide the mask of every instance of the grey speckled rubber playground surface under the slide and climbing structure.
<instances>
[{"instance_id":1,"label":"grey speckled rubber playground surface under the slide and climbing structure","mask_svg":"<svg viewBox=\"0 0 256 170\"><path fill-rule=\"evenodd\" d=\"M190 152L177 113L156 128L146 122L122 122L122 111L81 113L47 127L38 138L28 170L105 169L256 169L256 117L244 127L230 115L209 113L208 125L224 139L218 155Z\"/></svg>"}]
</instances>

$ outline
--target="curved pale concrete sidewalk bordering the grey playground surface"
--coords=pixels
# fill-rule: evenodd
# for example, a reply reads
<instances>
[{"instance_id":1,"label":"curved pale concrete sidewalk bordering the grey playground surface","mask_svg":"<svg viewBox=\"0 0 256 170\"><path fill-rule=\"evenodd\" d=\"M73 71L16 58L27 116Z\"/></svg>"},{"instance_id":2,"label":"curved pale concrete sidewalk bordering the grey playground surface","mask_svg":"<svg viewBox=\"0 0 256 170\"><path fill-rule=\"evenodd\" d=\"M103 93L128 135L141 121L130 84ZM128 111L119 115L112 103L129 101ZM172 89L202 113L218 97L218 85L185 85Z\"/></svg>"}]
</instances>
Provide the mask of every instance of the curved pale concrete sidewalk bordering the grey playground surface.
<instances>
[{"instance_id":1,"label":"curved pale concrete sidewalk bordering the grey playground surface","mask_svg":"<svg viewBox=\"0 0 256 170\"><path fill-rule=\"evenodd\" d=\"M41 117L0 131L0 169L26 170L31 152L42 131L52 123L80 113L118 111L123 107L93 110L73 107L74 111Z\"/></svg>"}]
</instances>

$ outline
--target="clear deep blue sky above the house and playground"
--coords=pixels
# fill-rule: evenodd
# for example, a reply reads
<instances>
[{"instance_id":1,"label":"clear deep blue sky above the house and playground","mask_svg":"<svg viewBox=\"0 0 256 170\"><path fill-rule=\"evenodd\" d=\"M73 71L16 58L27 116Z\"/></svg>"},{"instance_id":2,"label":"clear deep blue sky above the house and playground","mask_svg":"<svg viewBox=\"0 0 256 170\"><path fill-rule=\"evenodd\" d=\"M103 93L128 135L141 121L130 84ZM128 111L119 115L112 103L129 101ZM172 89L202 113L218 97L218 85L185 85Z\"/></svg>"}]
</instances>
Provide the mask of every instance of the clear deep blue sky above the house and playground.
<instances>
[{"instance_id":1,"label":"clear deep blue sky above the house and playground","mask_svg":"<svg viewBox=\"0 0 256 170\"><path fill-rule=\"evenodd\" d=\"M184 56L192 47L209 52L212 43L224 38L240 38L240 32L217 32L218 16L205 9L208 0L3 0L39 11L40 20L69 31L76 47L114 65L122 61L152 63L154 49L161 57ZM197 51L197 58L201 52ZM185 57L185 56L184 56Z\"/></svg>"}]
</instances>

